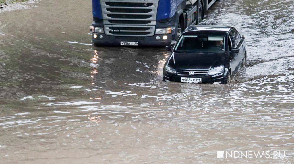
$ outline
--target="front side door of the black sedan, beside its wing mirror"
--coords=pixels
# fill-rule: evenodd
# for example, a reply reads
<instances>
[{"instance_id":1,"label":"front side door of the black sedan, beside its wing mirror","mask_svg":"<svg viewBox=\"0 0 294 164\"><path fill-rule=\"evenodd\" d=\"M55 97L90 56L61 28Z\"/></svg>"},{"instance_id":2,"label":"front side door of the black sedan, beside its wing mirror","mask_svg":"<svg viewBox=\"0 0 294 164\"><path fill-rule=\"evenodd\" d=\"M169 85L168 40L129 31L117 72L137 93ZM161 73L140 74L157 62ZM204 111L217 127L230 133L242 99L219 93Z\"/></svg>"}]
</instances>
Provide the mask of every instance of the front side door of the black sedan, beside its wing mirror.
<instances>
[{"instance_id":1,"label":"front side door of the black sedan, beside its wing mirror","mask_svg":"<svg viewBox=\"0 0 294 164\"><path fill-rule=\"evenodd\" d=\"M233 32L234 32L233 30L229 32L229 37L228 37L229 50L235 47ZM237 57L238 57L238 53L230 53L230 68L231 68L232 75L235 74L236 70L238 69L239 63L238 63Z\"/></svg>"}]
</instances>

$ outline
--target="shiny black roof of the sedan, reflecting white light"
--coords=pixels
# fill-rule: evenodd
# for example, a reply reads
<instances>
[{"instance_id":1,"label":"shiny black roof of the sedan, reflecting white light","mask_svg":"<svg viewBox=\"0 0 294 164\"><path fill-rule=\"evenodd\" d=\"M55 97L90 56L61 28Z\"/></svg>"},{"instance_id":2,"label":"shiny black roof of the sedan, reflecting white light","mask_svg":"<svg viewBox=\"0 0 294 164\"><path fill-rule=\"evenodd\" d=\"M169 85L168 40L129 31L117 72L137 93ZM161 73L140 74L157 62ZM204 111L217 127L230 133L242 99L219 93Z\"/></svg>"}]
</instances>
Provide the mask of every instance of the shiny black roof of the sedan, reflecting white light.
<instances>
[{"instance_id":1,"label":"shiny black roof of the sedan, reflecting white light","mask_svg":"<svg viewBox=\"0 0 294 164\"><path fill-rule=\"evenodd\" d=\"M186 28L183 35L189 34L218 34L226 35L233 27L222 25L192 25Z\"/></svg>"}]
</instances>

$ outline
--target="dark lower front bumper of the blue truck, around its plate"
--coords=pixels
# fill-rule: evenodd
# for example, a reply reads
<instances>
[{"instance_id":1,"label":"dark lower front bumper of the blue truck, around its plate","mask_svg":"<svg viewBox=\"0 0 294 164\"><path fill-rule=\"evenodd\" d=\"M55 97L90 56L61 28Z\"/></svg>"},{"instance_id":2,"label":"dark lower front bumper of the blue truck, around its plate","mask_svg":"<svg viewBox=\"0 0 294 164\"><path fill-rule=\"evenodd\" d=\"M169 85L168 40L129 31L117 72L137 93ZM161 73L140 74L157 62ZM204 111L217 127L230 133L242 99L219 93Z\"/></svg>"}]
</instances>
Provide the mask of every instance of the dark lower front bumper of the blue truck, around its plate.
<instances>
[{"instance_id":1,"label":"dark lower front bumper of the blue truck, around its plate","mask_svg":"<svg viewBox=\"0 0 294 164\"><path fill-rule=\"evenodd\" d=\"M93 36L97 35L95 39ZM163 36L167 39L164 40ZM156 37L159 36L159 39ZM121 42L138 42L138 46L168 46L171 44L171 34L155 34L151 37L118 37L92 32L92 42L96 46L121 46Z\"/></svg>"}]
</instances>

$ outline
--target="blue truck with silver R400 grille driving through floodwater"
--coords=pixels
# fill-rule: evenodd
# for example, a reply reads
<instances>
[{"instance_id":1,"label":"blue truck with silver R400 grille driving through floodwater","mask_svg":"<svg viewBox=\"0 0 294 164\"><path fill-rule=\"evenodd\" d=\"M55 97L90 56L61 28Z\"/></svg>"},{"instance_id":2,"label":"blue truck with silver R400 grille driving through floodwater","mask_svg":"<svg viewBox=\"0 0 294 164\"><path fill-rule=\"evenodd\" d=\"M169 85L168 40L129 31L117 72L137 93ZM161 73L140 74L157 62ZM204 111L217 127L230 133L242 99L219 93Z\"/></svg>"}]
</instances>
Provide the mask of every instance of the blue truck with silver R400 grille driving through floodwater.
<instances>
[{"instance_id":1,"label":"blue truck with silver R400 grille driving through floodwater","mask_svg":"<svg viewBox=\"0 0 294 164\"><path fill-rule=\"evenodd\" d=\"M92 0L97 46L167 46L216 0Z\"/></svg>"}]
</instances>

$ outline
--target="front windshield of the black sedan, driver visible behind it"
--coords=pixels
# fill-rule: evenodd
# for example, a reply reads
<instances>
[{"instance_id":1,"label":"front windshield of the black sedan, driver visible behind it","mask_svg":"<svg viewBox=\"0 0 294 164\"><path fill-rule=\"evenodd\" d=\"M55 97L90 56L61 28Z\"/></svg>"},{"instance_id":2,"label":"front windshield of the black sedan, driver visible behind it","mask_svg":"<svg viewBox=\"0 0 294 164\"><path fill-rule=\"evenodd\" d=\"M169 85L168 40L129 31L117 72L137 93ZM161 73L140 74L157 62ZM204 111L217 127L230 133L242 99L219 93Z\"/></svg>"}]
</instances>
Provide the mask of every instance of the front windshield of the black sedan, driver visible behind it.
<instances>
[{"instance_id":1,"label":"front windshield of the black sedan, driver visible behind it","mask_svg":"<svg viewBox=\"0 0 294 164\"><path fill-rule=\"evenodd\" d=\"M225 51L224 37L222 36L189 36L182 35L175 51L221 53Z\"/></svg>"}]
</instances>

